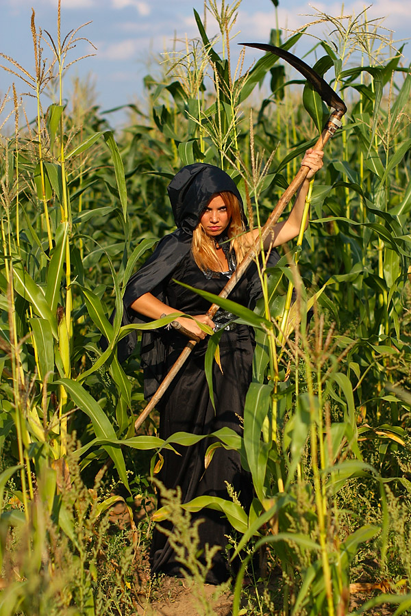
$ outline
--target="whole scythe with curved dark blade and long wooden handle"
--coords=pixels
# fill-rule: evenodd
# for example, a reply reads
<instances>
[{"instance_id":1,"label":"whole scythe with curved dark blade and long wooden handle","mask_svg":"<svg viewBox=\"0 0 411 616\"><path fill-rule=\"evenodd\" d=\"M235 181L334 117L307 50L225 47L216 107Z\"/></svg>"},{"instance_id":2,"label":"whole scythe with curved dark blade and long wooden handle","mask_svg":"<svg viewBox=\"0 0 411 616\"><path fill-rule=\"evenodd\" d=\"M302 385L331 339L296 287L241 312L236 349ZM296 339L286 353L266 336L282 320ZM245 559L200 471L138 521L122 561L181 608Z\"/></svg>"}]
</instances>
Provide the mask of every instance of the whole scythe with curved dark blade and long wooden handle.
<instances>
[{"instance_id":1,"label":"whole scythe with curved dark blade and long wooden handle","mask_svg":"<svg viewBox=\"0 0 411 616\"><path fill-rule=\"evenodd\" d=\"M244 44L247 47L255 47L256 49L262 49L263 51L269 51L271 53L275 53L275 55L278 55L279 57L282 57L284 60L286 60L286 62L288 62L288 64L291 64L291 66L294 66L295 68L297 68L297 70L299 70L299 72L304 77L306 77L308 81L310 81L310 84L312 84L312 87L314 88L314 90L316 90L316 92L319 93L321 99L325 103L327 103L329 107L334 108L334 111L329 116L327 123L325 124L325 127L321 133L321 136L319 137L319 139L317 140L313 148L314 150L323 150L327 141L336 132L336 129L341 127L341 118L343 117L345 112L347 112L347 107L345 106L345 103L340 99L340 97L338 97L336 92L334 92L331 86L327 84L327 81L325 81L323 77L320 77L320 75L318 75L315 72L315 70L313 70L310 66L308 66L306 62L303 62L303 60L300 60L299 57L292 55L292 53L290 53L289 51L286 51L285 49L281 49L280 47L275 47L274 45L269 45L269 44L264 44L264 43L240 43L240 44ZM264 224L264 227L262 227L261 234L258 236L256 241L254 242L253 246L249 248L249 251L247 251L247 253L245 254L244 259L242 259L241 263L236 268L236 271L234 272L232 277L229 279L229 281L227 282L227 284L221 291L219 297L226 298L232 292L236 283L240 280L242 275L245 273L245 270L247 270L247 268L251 264L251 261L253 261L254 259L258 257L261 251L261 245L264 243L264 240L269 238L269 235L272 233L271 229L273 225L278 221L279 216L281 216L286 205L288 205L292 196L295 195L295 193L300 188L303 181L306 179L308 171L309 171L308 167L301 166L301 168L297 172L297 175L291 181L290 185L288 186L288 188L286 189L282 197L279 198L277 205L271 212L268 220ZM218 309L219 309L219 305L212 304L212 306L207 312L208 316L212 319ZM182 333L185 333L184 327L180 328L180 331L182 331ZM192 335L190 336L191 336L191 339L186 344L184 350L182 350L182 353L179 355L179 358L177 359L177 361L175 362L171 370L169 370L169 373L166 375L166 377L162 381L160 387L158 387L157 392L155 392L150 402L148 403L147 407L145 407L144 411L142 411L142 413L140 413L140 416L137 418L134 424L136 431L138 430L138 428L140 428L142 422L145 421L145 419L149 416L149 413L151 413L152 409L155 407L158 401L162 398L164 392L166 392L166 389L169 387L171 381L173 381L173 378L182 368L182 365L184 365L186 359L190 355L190 352L192 351L193 348L195 348L195 345L197 344L197 342L199 342L199 339L192 339Z\"/></svg>"}]
</instances>

